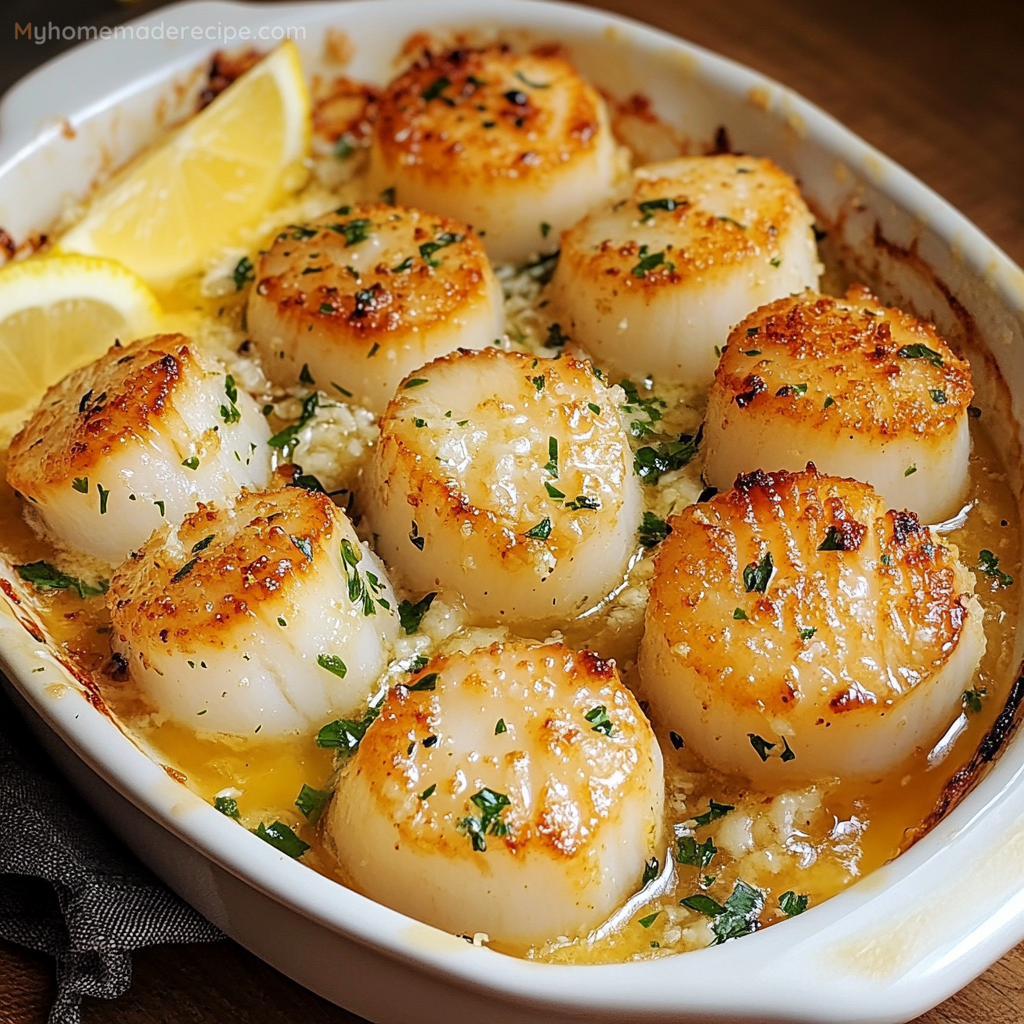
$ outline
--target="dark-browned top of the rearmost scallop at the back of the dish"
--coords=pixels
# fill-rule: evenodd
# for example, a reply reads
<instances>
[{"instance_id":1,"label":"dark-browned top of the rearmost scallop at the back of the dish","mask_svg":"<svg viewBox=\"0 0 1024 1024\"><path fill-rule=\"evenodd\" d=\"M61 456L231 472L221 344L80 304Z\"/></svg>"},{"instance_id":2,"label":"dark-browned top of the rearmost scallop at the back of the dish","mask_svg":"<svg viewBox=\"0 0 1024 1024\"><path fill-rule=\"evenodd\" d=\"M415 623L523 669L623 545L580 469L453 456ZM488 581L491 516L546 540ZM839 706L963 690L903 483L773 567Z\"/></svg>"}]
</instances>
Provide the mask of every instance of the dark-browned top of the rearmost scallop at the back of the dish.
<instances>
[{"instance_id":1,"label":"dark-browned top of the rearmost scallop at the back of the dish","mask_svg":"<svg viewBox=\"0 0 1024 1024\"><path fill-rule=\"evenodd\" d=\"M381 95L374 144L386 166L447 188L536 185L593 152L600 130L601 99L565 56L495 45L424 53Z\"/></svg>"}]
</instances>

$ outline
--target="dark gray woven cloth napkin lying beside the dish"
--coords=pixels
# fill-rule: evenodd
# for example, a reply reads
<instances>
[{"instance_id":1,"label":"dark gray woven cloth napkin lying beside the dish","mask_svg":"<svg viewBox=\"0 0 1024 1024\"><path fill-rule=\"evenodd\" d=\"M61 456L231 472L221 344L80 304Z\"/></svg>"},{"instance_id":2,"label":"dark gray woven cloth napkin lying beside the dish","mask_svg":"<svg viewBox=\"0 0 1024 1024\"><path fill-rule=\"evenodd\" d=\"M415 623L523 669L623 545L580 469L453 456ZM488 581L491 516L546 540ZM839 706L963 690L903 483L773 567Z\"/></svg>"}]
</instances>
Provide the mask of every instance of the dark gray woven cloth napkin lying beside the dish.
<instances>
[{"instance_id":1,"label":"dark gray woven cloth napkin lying beside the dish","mask_svg":"<svg viewBox=\"0 0 1024 1024\"><path fill-rule=\"evenodd\" d=\"M56 959L50 1024L125 992L132 949L222 937L99 823L0 688L0 938Z\"/></svg>"}]
</instances>

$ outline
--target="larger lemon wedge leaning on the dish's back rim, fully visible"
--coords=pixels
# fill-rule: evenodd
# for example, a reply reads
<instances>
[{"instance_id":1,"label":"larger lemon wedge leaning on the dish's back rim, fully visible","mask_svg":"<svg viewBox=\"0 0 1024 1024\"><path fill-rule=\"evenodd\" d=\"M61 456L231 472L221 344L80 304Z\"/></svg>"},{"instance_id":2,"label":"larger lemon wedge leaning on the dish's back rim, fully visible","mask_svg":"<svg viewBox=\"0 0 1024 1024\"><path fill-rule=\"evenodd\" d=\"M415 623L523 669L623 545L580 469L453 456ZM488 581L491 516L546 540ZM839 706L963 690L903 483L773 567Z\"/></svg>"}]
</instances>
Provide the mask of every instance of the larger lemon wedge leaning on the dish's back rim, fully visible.
<instances>
[{"instance_id":1,"label":"larger lemon wedge leaning on the dish's back rim, fully visible","mask_svg":"<svg viewBox=\"0 0 1024 1024\"><path fill-rule=\"evenodd\" d=\"M169 288L301 185L309 125L299 51L285 42L130 164L58 249L110 256Z\"/></svg>"}]
</instances>

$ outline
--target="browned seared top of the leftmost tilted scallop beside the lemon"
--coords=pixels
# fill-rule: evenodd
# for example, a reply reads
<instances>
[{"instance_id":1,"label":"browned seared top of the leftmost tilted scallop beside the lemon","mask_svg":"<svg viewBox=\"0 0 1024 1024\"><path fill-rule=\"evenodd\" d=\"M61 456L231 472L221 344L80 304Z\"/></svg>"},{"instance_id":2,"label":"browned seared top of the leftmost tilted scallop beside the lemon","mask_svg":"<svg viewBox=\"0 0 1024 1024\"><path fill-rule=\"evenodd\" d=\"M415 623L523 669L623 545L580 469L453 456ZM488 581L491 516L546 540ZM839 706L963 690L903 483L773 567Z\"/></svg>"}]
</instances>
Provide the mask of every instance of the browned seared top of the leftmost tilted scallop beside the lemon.
<instances>
[{"instance_id":1,"label":"browned seared top of the leftmost tilted scallop beside the lemon","mask_svg":"<svg viewBox=\"0 0 1024 1024\"><path fill-rule=\"evenodd\" d=\"M46 392L10 443L7 482L38 497L41 488L86 476L101 459L144 442L165 418L180 432L174 394L206 374L180 334L115 344Z\"/></svg>"}]
</instances>

